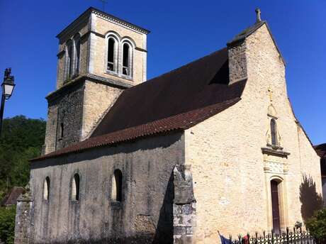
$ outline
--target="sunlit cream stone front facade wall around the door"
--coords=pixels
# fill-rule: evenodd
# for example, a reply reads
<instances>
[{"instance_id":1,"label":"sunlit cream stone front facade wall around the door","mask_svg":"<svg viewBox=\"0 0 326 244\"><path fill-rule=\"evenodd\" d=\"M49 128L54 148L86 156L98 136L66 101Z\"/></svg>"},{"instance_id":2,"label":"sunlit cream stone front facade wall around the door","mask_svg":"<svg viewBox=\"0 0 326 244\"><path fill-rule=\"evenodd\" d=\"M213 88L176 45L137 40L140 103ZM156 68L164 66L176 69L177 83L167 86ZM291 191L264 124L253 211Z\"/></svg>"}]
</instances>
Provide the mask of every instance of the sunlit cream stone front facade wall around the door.
<instances>
[{"instance_id":1,"label":"sunlit cream stone front facade wall around the door","mask_svg":"<svg viewBox=\"0 0 326 244\"><path fill-rule=\"evenodd\" d=\"M193 174L198 244L218 243L218 231L225 236L270 231L271 179L283 185L282 228L303 221L299 198L303 174L312 176L321 192L319 158L293 116L285 67L266 25L245 42L248 80L242 100L185 132L185 164L191 165ZM268 141L271 104L283 151L290 153L286 158L262 153ZM285 170L266 171L266 162Z\"/></svg>"}]
</instances>

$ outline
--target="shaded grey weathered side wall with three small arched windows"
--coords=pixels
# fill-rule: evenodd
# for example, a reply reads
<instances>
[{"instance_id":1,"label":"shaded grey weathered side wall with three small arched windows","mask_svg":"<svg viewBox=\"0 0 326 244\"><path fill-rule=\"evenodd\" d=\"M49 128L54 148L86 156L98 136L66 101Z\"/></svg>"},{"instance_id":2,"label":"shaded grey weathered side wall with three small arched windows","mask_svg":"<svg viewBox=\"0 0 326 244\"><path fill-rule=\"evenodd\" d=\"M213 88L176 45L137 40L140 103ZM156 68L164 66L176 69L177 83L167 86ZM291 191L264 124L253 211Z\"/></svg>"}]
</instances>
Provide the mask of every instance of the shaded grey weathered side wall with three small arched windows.
<instances>
[{"instance_id":1,"label":"shaded grey weathered side wall with three small arched windows","mask_svg":"<svg viewBox=\"0 0 326 244\"><path fill-rule=\"evenodd\" d=\"M34 243L173 242L173 170L184 163L184 135L169 133L33 162ZM122 201L111 200L113 172ZM71 182L80 177L79 201ZM49 201L43 184L50 177Z\"/></svg>"}]
</instances>

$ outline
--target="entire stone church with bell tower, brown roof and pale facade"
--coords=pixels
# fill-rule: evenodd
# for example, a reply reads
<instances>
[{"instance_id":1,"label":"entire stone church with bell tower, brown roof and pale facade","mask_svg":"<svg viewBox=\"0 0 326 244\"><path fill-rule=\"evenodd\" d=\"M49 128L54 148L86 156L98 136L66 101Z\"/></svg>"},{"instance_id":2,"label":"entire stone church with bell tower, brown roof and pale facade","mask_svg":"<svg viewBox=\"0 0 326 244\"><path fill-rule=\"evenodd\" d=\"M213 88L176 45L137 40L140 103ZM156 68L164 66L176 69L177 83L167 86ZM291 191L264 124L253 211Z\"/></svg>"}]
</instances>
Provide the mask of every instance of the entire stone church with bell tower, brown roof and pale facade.
<instances>
[{"instance_id":1,"label":"entire stone church with bell tower, brown roof and pale facade","mask_svg":"<svg viewBox=\"0 0 326 244\"><path fill-rule=\"evenodd\" d=\"M218 231L302 222L300 185L307 176L322 192L320 157L256 18L148 81L145 28L94 8L64 28L16 243L218 243Z\"/></svg>"}]
</instances>

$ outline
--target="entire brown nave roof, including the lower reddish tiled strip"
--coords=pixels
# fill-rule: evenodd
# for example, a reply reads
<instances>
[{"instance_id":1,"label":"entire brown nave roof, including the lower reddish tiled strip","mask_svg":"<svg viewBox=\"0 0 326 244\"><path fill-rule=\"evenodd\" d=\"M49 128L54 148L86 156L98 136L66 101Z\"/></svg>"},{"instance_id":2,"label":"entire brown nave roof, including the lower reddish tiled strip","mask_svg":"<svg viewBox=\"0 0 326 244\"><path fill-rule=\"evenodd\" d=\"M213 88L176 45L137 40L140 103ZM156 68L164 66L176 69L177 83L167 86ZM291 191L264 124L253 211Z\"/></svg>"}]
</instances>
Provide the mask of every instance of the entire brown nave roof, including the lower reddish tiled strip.
<instances>
[{"instance_id":1,"label":"entire brown nave roof, including the lower reddish tiled strip","mask_svg":"<svg viewBox=\"0 0 326 244\"><path fill-rule=\"evenodd\" d=\"M31 161L191 128L240 101L245 84L229 84L227 48L218 50L126 89L89 139Z\"/></svg>"}]
</instances>

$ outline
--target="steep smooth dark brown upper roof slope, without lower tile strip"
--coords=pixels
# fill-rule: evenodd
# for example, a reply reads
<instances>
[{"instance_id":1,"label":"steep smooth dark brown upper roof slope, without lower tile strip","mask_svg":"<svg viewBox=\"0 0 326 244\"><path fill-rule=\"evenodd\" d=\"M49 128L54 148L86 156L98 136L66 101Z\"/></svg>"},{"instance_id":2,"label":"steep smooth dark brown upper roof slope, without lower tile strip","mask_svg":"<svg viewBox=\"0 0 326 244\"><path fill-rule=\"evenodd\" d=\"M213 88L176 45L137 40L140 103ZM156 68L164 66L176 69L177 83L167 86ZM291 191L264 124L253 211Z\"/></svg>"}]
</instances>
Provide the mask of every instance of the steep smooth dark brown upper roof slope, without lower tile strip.
<instances>
[{"instance_id":1,"label":"steep smooth dark brown upper roof slope, without lower tile strip","mask_svg":"<svg viewBox=\"0 0 326 244\"><path fill-rule=\"evenodd\" d=\"M240 97L245 82L228 83L227 48L223 48L123 91L91 137Z\"/></svg>"}]
</instances>

